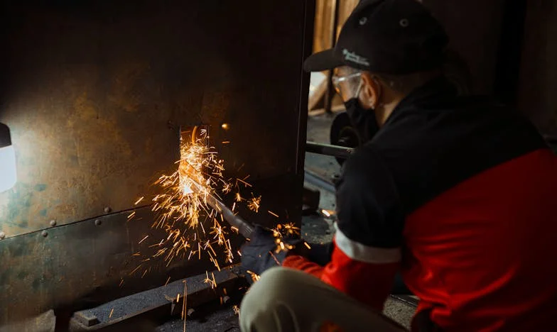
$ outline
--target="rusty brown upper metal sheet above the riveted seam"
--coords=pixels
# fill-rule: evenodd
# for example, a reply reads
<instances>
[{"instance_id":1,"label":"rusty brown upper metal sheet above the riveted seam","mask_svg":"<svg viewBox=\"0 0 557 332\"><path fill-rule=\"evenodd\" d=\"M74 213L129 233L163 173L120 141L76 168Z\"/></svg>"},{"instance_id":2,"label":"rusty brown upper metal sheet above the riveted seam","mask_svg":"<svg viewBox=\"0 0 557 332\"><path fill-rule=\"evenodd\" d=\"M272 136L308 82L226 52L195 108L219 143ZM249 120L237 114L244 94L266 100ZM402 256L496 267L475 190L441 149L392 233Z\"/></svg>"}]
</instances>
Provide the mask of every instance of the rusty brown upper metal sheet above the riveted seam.
<instances>
[{"instance_id":1,"label":"rusty brown upper metal sheet above the riveted seam","mask_svg":"<svg viewBox=\"0 0 557 332\"><path fill-rule=\"evenodd\" d=\"M229 176L288 174L301 187L304 2L48 3L1 8L0 121L18 167L0 193L7 238L131 209L174 167L182 125L215 128Z\"/></svg>"}]
</instances>

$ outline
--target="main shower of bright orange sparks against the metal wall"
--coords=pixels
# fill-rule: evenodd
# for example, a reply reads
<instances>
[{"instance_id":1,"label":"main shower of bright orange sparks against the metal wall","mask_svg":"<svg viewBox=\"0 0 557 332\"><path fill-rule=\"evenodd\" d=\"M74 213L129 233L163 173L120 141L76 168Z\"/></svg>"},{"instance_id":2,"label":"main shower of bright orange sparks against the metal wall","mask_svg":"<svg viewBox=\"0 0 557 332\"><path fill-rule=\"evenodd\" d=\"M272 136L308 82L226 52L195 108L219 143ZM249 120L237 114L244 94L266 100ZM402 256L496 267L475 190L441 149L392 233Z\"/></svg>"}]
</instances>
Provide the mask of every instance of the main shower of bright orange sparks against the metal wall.
<instances>
[{"instance_id":1,"label":"main shower of bright orange sparks against the metal wall","mask_svg":"<svg viewBox=\"0 0 557 332\"><path fill-rule=\"evenodd\" d=\"M232 263L235 251L228 236L238 230L229 227L220 211L207 204L209 195L221 199L219 194L233 193L234 208L237 204L247 204L252 206L249 209L257 211L261 204L261 197L242 197L240 189L251 187L245 181L248 177L224 177L225 162L218 158L215 148L207 142L205 129L195 127L187 135L183 133L177 170L171 175L162 175L154 183L159 194L152 199L152 210L156 213L152 227L162 229L165 236L149 239L154 242L148 247L154 251L148 255L163 260L167 266L175 259L202 259L202 256L209 258L217 270L223 262ZM136 204L143 199L138 199ZM135 213L131 213L128 217L131 219L134 216ZM139 243L148 242L147 238Z\"/></svg>"}]
</instances>

